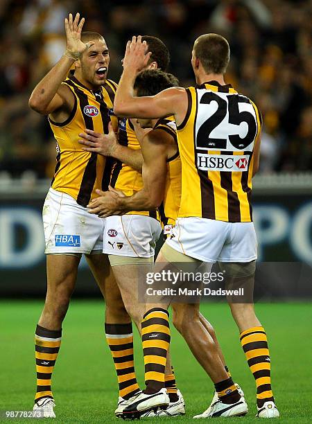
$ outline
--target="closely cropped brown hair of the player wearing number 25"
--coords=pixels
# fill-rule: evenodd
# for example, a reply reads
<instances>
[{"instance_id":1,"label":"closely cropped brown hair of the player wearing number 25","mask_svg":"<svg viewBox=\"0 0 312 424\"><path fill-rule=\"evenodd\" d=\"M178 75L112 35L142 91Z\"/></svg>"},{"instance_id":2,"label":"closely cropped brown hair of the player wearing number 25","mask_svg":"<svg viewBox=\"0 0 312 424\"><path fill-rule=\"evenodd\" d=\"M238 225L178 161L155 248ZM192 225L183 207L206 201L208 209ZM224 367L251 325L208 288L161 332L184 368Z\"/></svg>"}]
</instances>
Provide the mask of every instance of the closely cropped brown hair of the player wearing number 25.
<instances>
[{"instance_id":1,"label":"closely cropped brown hair of the player wearing number 25","mask_svg":"<svg viewBox=\"0 0 312 424\"><path fill-rule=\"evenodd\" d=\"M229 43L218 34L200 35L194 53L207 73L225 73L229 64Z\"/></svg>"}]
</instances>

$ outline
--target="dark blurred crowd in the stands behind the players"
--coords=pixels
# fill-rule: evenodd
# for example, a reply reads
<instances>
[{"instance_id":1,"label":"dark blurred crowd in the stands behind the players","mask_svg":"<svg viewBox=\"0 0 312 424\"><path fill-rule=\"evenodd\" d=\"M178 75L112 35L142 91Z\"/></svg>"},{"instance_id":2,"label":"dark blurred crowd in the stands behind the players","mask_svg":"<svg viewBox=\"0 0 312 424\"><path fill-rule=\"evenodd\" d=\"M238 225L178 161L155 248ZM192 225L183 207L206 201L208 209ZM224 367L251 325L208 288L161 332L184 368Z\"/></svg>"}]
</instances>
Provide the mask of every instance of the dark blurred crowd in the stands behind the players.
<instances>
[{"instance_id":1,"label":"dark blurred crowd in the stands behind the players","mask_svg":"<svg viewBox=\"0 0 312 424\"><path fill-rule=\"evenodd\" d=\"M160 37L171 53L169 70L184 87L193 85L196 37L227 37L226 81L263 114L261 173L312 170L310 0L1 0L1 178L53 175L53 136L46 118L28 108L28 97L64 52L64 17L77 11L85 30L104 35L116 82L132 35Z\"/></svg>"}]
</instances>

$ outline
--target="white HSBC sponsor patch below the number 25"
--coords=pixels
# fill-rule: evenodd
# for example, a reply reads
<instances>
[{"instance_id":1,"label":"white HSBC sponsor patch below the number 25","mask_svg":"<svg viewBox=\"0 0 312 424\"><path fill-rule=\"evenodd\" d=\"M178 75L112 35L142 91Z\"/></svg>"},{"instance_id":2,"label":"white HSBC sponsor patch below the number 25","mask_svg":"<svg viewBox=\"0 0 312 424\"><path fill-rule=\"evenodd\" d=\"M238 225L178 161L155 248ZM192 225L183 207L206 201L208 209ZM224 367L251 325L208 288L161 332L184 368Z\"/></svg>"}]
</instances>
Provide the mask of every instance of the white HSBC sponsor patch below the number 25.
<instances>
[{"instance_id":1,"label":"white HSBC sponsor patch below the number 25","mask_svg":"<svg viewBox=\"0 0 312 424\"><path fill-rule=\"evenodd\" d=\"M234 154L204 154L198 153L197 167L201 170L218 170L227 172L242 172L248 170L249 156Z\"/></svg>"}]
</instances>

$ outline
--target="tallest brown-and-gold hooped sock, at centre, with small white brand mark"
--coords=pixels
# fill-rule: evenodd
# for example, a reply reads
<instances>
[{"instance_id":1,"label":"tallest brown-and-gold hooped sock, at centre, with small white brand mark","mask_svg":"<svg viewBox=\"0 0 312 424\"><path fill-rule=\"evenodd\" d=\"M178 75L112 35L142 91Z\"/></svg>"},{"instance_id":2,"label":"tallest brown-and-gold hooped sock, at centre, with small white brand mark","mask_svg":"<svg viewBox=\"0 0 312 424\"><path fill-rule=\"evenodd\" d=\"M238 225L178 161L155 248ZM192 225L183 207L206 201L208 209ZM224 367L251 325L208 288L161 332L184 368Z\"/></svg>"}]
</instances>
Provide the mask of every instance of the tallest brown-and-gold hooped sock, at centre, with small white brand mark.
<instances>
[{"instance_id":1,"label":"tallest brown-and-gold hooped sock, at centre, with small white brand mark","mask_svg":"<svg viewBox=\"0 0 312 424\"><path fill-rule=\"evenodd\" d=\"M162 308L148 310L142 321L142 345L145 365L146 394L165 387L166 356L170 344L168 311Z\"/></svg>"}]
</instances>

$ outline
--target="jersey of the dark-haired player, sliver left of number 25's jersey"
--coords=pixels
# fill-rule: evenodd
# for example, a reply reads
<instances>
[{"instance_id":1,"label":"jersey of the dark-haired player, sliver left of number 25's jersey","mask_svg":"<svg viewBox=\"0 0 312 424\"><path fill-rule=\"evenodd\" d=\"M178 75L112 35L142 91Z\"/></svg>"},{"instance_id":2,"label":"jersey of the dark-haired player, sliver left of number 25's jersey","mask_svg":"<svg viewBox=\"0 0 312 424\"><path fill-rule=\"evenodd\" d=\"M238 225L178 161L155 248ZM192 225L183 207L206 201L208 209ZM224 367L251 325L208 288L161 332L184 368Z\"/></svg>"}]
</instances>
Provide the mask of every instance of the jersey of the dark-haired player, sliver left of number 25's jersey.
<instances>
[{"instance_id":1,"label":"jersey of the dark-haired player, sliver left of number 25's jersey","mask_svg":"<svg viewBox=\"0 0 312 424\"><path fill-rule=\"evenodd\" d=\"M177 145L177 125L175 124L174 117L161 118L155 124L154 130L163 130L173 136ZM164 227L164 234L166 234L167 226L175 225L175 220L180 209L181 201L181 159L179 149L173 157L167 159L167 175L166 175L166 188L164 193L164 202L159 206L160 218ZM170 228L168 228L168 233Z\"/></svg>"}]
</instances>

